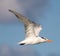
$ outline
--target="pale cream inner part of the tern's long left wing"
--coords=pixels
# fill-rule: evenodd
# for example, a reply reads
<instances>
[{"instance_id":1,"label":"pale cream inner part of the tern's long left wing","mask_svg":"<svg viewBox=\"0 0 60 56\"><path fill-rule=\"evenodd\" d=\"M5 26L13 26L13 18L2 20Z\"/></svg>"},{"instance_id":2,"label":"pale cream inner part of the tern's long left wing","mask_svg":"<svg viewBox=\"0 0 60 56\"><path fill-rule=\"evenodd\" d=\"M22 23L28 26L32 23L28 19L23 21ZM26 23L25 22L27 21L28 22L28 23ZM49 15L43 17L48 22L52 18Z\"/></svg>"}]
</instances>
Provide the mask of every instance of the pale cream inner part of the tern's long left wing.
<instances>
[{"instance_id":1,"label":"pale cream inner part of the tern's long left wing","mask_svg":"<svg viewBox=\"0 0 60 56\"><path fill-rule=\"evenodd\" d=\"M28 26L25 25L25 33L26 33L26 38L36 37L34 33L33 24L29 24Z\"/></svg>"}]
</instances>

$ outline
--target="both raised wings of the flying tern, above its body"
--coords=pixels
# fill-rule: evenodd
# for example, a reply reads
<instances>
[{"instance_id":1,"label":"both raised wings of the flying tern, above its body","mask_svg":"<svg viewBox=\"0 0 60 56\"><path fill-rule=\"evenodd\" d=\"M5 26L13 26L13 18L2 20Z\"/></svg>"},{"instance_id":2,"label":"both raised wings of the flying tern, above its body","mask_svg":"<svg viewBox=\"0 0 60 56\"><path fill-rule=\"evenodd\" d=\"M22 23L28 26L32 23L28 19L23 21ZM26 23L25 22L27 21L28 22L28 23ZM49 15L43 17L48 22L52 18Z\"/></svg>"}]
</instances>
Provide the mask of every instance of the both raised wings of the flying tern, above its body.
<instances>
[{"instance_id":1,"label":"both raised wings of the flying tern, above its body","mask_svg":"<svg viewBox=\"0 0 60 56\"><path fill-rule=\"evenodd\" d=\"M9 11L15 14L15 16L24 23L26 37L36 37L39 35L39 32L42 29L40 25L29 20L28 18L26 18L25 16L21 15L16 11L13 10L9 10Z\"/></svg>"}]
</instances>

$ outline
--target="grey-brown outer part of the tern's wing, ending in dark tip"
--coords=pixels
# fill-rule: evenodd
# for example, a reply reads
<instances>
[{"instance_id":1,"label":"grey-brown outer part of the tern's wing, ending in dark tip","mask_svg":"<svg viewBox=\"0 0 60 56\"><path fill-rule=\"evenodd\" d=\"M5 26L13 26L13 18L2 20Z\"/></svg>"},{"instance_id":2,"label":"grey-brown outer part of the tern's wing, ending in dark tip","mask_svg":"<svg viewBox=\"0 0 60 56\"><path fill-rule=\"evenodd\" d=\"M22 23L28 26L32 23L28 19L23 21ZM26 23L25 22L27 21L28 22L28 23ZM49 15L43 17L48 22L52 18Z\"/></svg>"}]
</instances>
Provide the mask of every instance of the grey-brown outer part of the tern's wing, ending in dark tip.
<instances>
[{"instance_id":1,"label":"grey-brown outer part of the tern's wing, ending in dark tip","mask_svg":"<svg viewBox=\"0 0 60 56\"><path fill-rule=\"evenodd\" d=\"M9 10L9 11L12 12L24 24L29 25L31 23L31 21L28 18L26 18L25 16L21 15L20 13L14 11L14 10Z\"/></svg>"}]
</instances>

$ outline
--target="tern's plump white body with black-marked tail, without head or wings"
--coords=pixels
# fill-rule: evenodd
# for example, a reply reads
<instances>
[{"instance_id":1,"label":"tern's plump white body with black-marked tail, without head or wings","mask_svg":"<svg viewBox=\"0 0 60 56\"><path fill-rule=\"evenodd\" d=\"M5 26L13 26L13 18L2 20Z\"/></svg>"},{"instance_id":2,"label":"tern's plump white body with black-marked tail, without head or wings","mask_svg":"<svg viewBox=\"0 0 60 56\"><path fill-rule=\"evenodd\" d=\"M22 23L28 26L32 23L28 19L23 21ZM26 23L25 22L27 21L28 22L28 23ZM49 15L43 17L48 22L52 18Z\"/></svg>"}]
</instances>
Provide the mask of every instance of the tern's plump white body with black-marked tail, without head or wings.
<instances>
[{"instance_id":1,"label":"tern's plump white body with black-marked tail, without head or wings","mask_svg":"<svg viewBox=\"0 0 60 56\"><path fill-rule=\"evenodd\" d=\"M42 41L44 41L44 40L42 40L40 37L37 37L37 38L30 37L30 38L24 39L23 41L19 42L18 44L39 44Z\"/></svg>"}]
</instances>

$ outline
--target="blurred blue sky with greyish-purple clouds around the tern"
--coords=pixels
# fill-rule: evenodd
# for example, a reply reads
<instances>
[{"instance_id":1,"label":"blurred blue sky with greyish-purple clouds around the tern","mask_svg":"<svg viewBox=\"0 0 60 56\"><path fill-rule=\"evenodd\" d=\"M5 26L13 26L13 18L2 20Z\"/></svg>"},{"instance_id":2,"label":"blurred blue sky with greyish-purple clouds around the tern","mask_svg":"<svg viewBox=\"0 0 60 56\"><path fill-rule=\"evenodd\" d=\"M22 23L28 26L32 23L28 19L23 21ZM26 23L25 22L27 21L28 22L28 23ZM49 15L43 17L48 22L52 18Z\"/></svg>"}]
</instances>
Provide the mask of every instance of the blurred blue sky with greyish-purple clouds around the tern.
<instances>
[{"instance_id":1,"label":"blurred blue sky with greyish-purple clouds around the tern","mask_svg":"<svg viewBox=\"0 0 60 56\"><path fill-rule=\"evenodd\" d=\"M8 9L41 24L51 43L19 46L24 26ZM0 0L0 56L60 56L60 0Z\"/></svg>"}]
</instances>

